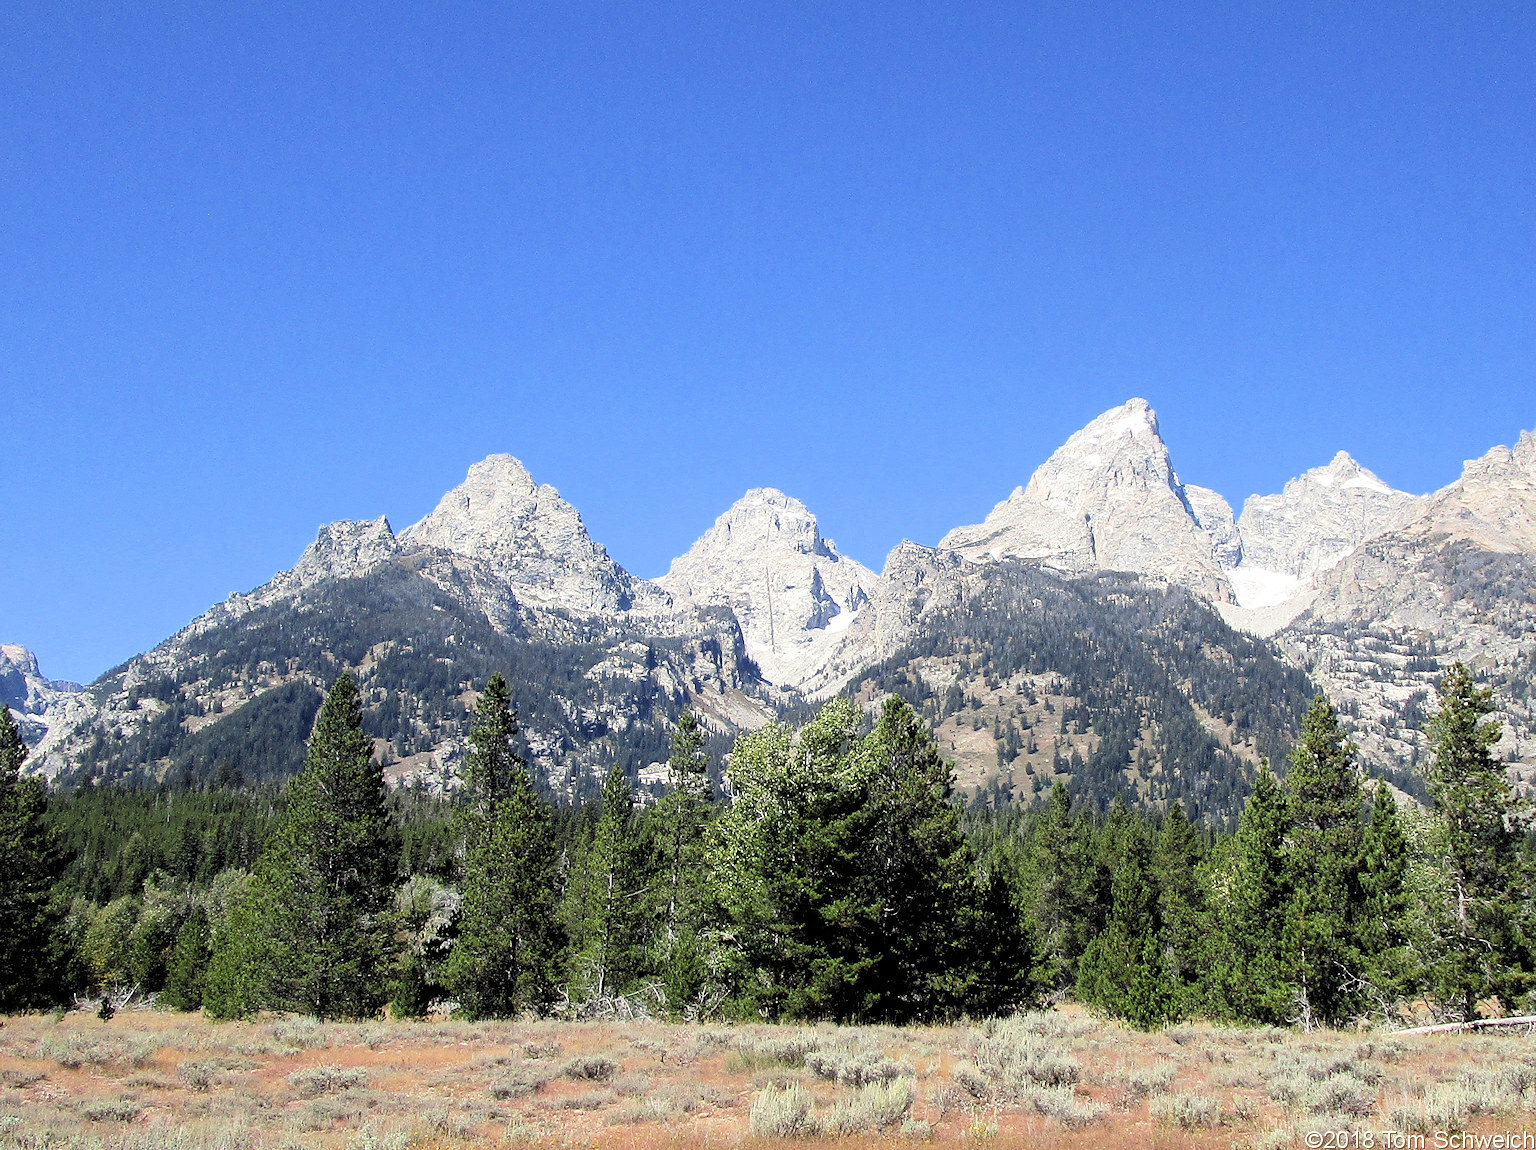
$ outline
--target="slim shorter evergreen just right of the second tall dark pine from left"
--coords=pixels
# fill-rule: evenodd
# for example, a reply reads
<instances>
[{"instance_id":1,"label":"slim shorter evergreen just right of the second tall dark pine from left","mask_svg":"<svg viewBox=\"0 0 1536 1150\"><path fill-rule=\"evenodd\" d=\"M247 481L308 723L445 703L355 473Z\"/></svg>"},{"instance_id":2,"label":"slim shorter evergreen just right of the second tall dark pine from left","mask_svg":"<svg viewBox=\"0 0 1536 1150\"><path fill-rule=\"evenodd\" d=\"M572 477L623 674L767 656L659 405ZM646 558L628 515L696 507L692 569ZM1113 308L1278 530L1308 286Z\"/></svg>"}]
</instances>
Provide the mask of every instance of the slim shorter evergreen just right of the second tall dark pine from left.
<instances>
[{"instance_id":1,"label":"slim shorter evergreen just right of the second tall dark pine from left","mask_svg":"<svg viewBox=\"0 0 1536 1150\"><path fill-rule=\"evenodd\" d=\"M602 788L598 824L571 867L567 903L573 998L624 993L641 972L636 910L645 891L633 808L624 768L614 763Z\"/></svg>"}]
</instances>

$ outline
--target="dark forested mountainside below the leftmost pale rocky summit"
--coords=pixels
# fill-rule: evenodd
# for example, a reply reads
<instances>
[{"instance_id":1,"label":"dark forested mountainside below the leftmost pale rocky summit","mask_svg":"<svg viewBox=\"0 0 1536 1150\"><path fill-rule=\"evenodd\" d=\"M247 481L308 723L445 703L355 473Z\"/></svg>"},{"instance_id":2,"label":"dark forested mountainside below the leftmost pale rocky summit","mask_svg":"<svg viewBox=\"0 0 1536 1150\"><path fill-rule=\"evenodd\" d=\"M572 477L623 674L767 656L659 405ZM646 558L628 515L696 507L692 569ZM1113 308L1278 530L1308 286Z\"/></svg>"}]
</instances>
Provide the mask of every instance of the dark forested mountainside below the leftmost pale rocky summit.
<instances>
[{"instance_id":1,"label":"dark forested mountainside below the leftmost pale rocky summit","mask_svg":"<svg viewBox=\"0 0 1536 1150\"><path fill-rule=\"evenodd\" d=\"M633 778L665 760L690 692L708 702L751 688L736 646L728 617L703 637L548 611L498 626L412 562L392 562L190 628L174 656L103 676L92 692L106 715L80 732L60 782L287 778L304 762L321 688L349 671L389 777L439 785L439 765L462 760L472 685L502 669L541 785L579 800L613 763Z\"/></svg>"}]
</instances>

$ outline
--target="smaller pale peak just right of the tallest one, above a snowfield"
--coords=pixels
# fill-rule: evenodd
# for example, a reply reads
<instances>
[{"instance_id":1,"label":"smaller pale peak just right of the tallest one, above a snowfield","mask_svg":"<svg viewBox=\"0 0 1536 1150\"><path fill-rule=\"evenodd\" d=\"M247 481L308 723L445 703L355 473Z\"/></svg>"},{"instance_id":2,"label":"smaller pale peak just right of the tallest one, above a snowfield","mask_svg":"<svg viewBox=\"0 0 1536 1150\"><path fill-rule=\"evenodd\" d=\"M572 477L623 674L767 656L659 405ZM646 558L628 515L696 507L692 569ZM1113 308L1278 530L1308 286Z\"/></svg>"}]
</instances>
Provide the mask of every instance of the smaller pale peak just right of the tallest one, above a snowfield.
<instances>
[{"instance_id":1,"label":"smaller pale peak just right of the tallest one, above a snowfield","mask_svg":"<svg viewBox=\"0 0 1536 1150\"><path fill-rule=\"evenodd\" d=\"M1287 482L1279 494L1249 496L1238 519L1243 567L1310 579L1404 522L1418 504L1339 451L1326 467Z\"/></svg>"}]
</instances>

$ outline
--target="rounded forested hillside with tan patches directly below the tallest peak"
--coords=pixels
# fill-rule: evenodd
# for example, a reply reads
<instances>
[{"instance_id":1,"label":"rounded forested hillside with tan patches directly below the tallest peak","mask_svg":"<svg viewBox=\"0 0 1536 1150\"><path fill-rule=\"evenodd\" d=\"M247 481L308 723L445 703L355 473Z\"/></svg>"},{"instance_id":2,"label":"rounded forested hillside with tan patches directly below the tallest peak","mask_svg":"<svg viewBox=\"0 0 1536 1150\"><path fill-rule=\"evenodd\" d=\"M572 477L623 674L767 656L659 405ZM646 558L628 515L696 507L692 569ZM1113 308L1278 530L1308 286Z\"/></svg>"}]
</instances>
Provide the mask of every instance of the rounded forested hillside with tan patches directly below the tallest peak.
<instances>
[{"instance_id":1,"label":"rounded forested hillside with tan patches directly below the tallest peak","mask_svg":"<svg viewBox=\"0 0 1536 1150\"><path fill-rule=\"evenodd\" d=\"M963 789L991 806L1028 806L1061 780L1097 809L1178 801L1221 824L1260 760L1284 760L1315 694L1181 587L1018 560L983 567L849 689L917 706Z\"/></svg>"}]
</instances>

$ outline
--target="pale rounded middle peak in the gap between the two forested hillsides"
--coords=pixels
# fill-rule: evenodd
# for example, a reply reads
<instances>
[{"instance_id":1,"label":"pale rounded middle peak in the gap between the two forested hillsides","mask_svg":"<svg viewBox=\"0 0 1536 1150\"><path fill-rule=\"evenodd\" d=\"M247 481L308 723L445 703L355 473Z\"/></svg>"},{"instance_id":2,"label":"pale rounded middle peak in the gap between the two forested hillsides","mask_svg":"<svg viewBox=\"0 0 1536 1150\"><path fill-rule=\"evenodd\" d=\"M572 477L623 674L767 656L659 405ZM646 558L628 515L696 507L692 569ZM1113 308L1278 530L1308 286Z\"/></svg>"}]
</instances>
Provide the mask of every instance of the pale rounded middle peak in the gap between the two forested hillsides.
<instances>
[{"instance_id":1,"label":"pale rounded middle peak in the gap between the two forested hillsides","mask_svg":"<svg viewBox=\"0 0 1536 1150\"><path fill-rule=\"evenodd\" d=\"M759 487L731 504L656 582L696 605L731 608L763 674L793 685L840 642L877 576L839 554L805 504Z\"/></svg>"}]
</instances>

